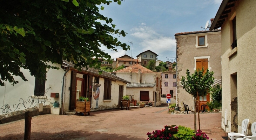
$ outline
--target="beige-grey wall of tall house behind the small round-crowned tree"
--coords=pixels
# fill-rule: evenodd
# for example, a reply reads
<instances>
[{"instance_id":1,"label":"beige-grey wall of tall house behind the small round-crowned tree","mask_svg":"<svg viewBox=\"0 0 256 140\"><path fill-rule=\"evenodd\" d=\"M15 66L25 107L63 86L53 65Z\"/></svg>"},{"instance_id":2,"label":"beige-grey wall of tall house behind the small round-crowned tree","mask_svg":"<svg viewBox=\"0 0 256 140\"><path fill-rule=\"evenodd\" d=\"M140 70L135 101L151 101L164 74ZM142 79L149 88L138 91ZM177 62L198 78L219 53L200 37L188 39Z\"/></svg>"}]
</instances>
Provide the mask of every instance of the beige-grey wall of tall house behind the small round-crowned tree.
<instances>
[{"instance_id":1,"label":"beige-grey wall of tall house behind the small round-crowned tree","mask_svg":"<svg viewBox=\"0 0 256 140\"><path fill-rule=\"evenodd\" d=\"M196 36L207 36L207 47L196 47ZM177 104L183 107L194 107L194 98L180 85L181 76L186 77L186 70L194 73L196 59L208 58L209 70L214 71L213 77L221 79L221 34L220 32L196 33L176 36L177 39Z\"/></svg>"}]
</instances>

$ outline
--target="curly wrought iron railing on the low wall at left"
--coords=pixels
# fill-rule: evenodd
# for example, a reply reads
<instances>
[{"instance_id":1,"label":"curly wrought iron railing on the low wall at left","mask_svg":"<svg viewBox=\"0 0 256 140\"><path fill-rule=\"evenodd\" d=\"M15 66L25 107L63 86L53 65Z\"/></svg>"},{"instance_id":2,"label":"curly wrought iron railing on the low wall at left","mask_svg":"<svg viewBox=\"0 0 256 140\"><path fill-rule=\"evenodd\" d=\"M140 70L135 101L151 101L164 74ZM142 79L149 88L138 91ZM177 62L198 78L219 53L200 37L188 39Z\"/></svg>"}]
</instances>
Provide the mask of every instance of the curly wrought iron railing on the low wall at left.
<instances>
[{"instance_id":1,"label":"curly wrought iron railing on the low wall at left","mask_svg":"<svg viewBox=\"0 0 256 140\"><path fill-rule=\"evenodd\" d=\"M15 103L12 107L9 104L5 104L0 108L0 111L2 111L3 114L5 114L8 113L8 111L16 111L17 109L20 109L20 107L31 108L36 107L36 104L39 103L43 103L43 105L45 105L46 102L50 104L50 99L46 99L46 94L50 88L51 87L47 88L43 93L41 93L41 95L43 96L29 96L27 98L27 101L25 101L23 98L20 98L18 104Z\"/></svg>"}]
</instances>

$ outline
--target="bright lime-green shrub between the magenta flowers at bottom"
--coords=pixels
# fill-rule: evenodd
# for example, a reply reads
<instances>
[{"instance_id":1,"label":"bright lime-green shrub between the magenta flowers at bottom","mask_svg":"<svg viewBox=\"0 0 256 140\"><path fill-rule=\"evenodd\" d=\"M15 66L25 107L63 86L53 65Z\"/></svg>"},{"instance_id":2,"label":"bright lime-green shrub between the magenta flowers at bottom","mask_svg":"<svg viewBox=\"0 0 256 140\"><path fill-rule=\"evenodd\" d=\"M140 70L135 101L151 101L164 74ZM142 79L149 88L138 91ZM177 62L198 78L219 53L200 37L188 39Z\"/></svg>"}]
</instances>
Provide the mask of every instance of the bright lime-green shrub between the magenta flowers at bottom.
<instances>
[{"instance_id":1,"label":"bright lime-green shrub between the magenta flowers at bottom","mask_svg":"<svg viewBox=\"0 0 256 140\"><path fill-rule=\"evenodd\" d=\"M192 140L192 137L195 136L195 134L194 130L180 125L178 126L178 132L174 134L174 137L179 140Z\"/></svg>"}]
</instances>

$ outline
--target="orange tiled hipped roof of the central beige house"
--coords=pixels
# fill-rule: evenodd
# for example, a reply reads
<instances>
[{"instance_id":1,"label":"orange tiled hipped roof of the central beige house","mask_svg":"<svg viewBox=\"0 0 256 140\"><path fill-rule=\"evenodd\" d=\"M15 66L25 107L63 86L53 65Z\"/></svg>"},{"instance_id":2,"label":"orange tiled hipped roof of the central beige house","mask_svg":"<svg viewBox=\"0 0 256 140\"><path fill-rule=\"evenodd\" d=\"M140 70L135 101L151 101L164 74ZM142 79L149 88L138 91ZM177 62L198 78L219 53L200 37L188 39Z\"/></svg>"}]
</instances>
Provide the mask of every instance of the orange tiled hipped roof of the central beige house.
<instances>
[{"instance_id":1,"label":"orange tiled hipped roof of the central beige house","mask_svg":"<svg viewBox=\"0 0 256 140\"><path fill-rule=\"evenodd\" d=\"M117 70L116 72L130 72L130 68L132 68L132 73L138 73L139 69L141 70L141 73L155 73L139 64L135 64L124 69Z\"/></svg>"}]
</instances>

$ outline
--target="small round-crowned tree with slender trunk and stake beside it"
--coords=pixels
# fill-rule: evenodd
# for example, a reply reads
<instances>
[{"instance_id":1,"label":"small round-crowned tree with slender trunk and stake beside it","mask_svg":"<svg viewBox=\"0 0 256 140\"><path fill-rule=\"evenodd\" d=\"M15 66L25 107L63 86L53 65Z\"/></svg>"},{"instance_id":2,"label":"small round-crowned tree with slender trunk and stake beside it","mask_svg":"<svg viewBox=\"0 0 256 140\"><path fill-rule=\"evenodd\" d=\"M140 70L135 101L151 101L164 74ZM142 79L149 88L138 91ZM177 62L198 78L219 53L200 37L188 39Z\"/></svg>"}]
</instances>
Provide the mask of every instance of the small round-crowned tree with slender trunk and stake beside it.
<instances>
[{"instance_id":1,"label":"small round-crowned tree with slender trunk and stake beside it","mask_svg":"<svg viewBox=\"0 0 256 140\"><path fill-rule=\"evenodd\" d=\"M202 70L197 69L194 73L190 75L189 70L187 69L186 74L187 77L182 76L181 77L181 85L183 88L188 92L189 94L192 94L196 99L196 107L198 111L198 125L199 125L199 132L200 132L200 115L199 115L199 97L200 96L206 96L206 94L209 92L211 85L213 85L214 77L213 77L213 71L209 71L207 69L206 72L204 72L204 69ZM196 131L196 113L195 115L195 131Z\"/></svg>"}]
</instances>

